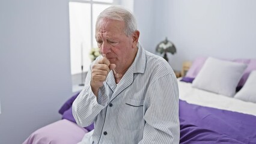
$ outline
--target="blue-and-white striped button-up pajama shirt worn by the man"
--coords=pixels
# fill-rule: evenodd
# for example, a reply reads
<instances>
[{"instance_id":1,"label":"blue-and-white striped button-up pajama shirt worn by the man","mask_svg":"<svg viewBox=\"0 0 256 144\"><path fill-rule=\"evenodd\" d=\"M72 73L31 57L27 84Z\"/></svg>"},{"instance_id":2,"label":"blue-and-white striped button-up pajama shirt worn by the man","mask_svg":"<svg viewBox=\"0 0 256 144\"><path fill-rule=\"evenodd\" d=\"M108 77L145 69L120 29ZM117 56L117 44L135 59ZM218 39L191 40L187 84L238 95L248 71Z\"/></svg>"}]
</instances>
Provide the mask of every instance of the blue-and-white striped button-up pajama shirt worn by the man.
<instances>
[{"instance_id":1,"label":"blue-and-white striped button-up pajama shirt worn by the man","mask_svg":"<svg viewBox=\"0 0 256 144\"><path fill-rule=\"evenodd\" d=\"M94 122L94 143L179 143L177 79L165 59L139 46L118 85L108 74L98 100L90 80L88 71L73 116L82 127Z\"/></svg>"}]
</instances>

